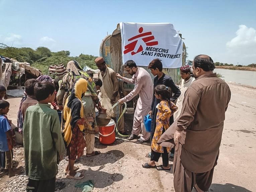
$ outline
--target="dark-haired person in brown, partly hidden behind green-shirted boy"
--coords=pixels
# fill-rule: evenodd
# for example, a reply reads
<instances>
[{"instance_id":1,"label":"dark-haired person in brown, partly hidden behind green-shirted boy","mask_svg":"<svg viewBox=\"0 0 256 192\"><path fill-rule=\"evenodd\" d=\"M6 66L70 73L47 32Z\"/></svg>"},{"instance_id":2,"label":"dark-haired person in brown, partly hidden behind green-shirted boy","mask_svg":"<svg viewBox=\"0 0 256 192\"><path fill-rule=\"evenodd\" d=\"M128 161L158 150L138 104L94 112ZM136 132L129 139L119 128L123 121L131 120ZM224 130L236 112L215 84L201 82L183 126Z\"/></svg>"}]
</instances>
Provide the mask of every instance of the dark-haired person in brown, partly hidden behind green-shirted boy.
<instances>
[{"instance_id":1,"label":"dark-haired person in brown, partly hidden behind green-shirted boy","mask_svg":"<svg viewBox=\"0 0 256 192\"><path fill-rule=\"evenodd\" d=\"M25 113L28 107L36 105L38 101L34 96L34 87L39 81L36 79L29 79L25 82L25 92L27 94L26 100L21 105L22 121L24 122Z\"/></svg>"}]
</instances>

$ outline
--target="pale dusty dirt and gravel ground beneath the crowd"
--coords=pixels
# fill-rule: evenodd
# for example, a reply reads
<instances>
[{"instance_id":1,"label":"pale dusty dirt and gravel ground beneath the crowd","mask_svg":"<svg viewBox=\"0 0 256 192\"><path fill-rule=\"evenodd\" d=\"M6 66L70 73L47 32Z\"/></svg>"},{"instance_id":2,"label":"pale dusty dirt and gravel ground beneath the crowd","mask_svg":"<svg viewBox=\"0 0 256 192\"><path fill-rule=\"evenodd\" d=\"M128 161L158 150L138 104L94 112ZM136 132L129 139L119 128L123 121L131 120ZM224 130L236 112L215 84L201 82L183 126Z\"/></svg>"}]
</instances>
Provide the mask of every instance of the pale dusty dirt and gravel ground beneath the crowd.
<instances>
[{"instance_id":1,"label":"pale dusty dirt and gravel ground beneath the crowd","mask_svg":"<svg viewBox=\"0 0 256 192\"><path fill-rule=\"evenodd\" d=\"M209 191L256 191L256 166L253 163L256 159L256 89L231 83L229 86L232 97L226 112L220 157ZM8 118L15 123L20 98L9 98L8 101L11 104ZM130 132L133 115L126 114L124 119L125 129ZM64 181L66 187L58 191L80 192L82 190L74 187L75 184L87 180L94 181L94 192L174 191L172 169L157 171L142 168L142 164L149 161L145 155L150 152L150 145L136 144L135 141L117 138L112 145L105 146L96 138L95 150L101 154L90 158L82 156L76 160L76 166L85 175L82 180L66 179L63 169L67 161L60 163L57 180ZM161 161L160 158L159 165ZM14 149L14 165L18 167L20 175L9 178L5 173L1 173L2 191L25 191L27 176L24 175L22 146Z\"/></svg>"}]
</instances>

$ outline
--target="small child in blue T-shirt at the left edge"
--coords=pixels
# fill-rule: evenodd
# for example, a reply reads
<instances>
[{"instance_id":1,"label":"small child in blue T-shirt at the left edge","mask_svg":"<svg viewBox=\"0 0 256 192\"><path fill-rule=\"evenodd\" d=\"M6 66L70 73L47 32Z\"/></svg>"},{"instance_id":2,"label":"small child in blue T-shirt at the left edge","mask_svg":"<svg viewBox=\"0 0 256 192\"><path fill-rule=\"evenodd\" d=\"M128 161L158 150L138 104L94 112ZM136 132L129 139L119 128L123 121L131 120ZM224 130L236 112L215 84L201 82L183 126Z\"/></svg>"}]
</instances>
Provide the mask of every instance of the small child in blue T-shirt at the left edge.
<instances>
[{"instance_id":1,"label":"small child in blue T-shirt at the left edge","mask_svg":"<svg viewBox=\"0 0 256 192\"><path fill-rule=\"evenodd\" d=\"M13 151L15 145L11 124L5 114L9 112L10 103L0 100L0 164L8 170L9 176L16 175L12 167Z\"/></svg>"}]
</instances>

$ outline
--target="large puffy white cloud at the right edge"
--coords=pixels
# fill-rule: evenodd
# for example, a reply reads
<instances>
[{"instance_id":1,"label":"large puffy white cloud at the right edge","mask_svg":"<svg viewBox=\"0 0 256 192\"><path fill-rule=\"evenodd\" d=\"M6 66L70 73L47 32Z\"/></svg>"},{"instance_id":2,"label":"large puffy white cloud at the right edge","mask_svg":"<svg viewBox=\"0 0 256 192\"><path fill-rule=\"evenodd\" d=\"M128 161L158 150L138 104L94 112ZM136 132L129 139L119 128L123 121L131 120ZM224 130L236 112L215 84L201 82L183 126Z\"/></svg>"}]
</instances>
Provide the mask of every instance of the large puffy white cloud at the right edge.
<instances>
[{"instance_id":1,"label":"large puffy white cloud at the right edge","mask_svg":"<svg viewBox=\"0 0 256 192\"><path fill-rule=\"evenodd\" d=\"M240 57L256 56L256 30L246 25L239 25L236 37L226 43L230 54L239 54Z\"/></svg>"}]
</instances>

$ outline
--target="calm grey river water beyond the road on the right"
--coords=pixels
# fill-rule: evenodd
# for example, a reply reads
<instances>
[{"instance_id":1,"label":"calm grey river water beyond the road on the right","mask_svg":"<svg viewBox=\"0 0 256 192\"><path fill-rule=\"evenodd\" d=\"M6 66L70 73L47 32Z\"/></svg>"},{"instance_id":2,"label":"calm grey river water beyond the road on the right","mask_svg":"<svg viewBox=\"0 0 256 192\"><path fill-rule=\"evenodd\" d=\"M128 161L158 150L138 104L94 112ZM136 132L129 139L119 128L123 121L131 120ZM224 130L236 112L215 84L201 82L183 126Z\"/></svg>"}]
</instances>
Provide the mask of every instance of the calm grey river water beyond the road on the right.
<instances>
[{"instance_id":1,"label":"calm grey river water beyond the road on the right","mask_svg":"<svg viewBox=\"0 0 256 192\"><path fill-rule=\"evenodd\" d=\"M214 72L220 73L226 82L231 81L256 87L256 71L215 69Z\"/></svg>"}]
</instances>

